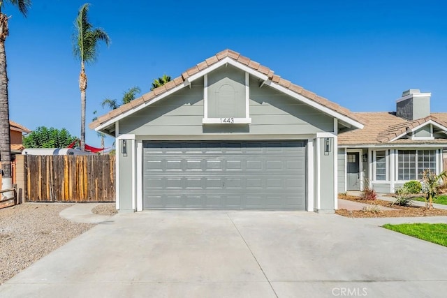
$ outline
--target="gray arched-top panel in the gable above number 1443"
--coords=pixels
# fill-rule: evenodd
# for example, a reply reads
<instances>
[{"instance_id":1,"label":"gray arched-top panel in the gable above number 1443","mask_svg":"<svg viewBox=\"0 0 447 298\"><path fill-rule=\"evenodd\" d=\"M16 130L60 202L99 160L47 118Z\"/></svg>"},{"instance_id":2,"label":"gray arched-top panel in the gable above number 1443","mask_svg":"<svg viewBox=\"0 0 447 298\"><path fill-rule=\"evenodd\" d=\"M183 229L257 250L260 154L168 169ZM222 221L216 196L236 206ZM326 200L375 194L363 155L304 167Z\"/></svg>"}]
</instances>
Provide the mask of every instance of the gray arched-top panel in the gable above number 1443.
<instances>
[{"instance_id":1,"label":"gray arched-top panel in the gable above number 1443","mask_svg":"<svg viewBox=\"0 0 447 298\"><path fill-rule=\"evenodd\" d=\"M208 75L208 117L245 118L245 73L234 66Z\"/></svg>"}]
</instances>

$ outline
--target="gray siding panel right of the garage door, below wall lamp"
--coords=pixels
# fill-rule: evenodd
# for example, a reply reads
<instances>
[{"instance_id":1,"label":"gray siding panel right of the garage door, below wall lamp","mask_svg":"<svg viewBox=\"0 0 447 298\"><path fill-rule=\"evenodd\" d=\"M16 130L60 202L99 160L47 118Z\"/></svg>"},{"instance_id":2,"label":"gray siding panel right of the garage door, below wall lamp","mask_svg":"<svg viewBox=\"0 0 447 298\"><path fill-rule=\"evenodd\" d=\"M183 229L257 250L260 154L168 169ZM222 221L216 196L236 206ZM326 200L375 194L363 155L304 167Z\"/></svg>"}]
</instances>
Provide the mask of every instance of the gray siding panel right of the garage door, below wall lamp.
<instances>
[{"instance_id":1,"label":"gray siding panel right of the garage door, below wall lamp","mask_svg":"<svg viewBox=\"0 0 447 298\"><path fill-rule=\"evenodd\" d=\"M324 139L318 139L320 142L320 209L335 209L334 193L334 158L335 150L332 140L332 150L328 155L324 153Z\"/></svg>"}]
</instances>

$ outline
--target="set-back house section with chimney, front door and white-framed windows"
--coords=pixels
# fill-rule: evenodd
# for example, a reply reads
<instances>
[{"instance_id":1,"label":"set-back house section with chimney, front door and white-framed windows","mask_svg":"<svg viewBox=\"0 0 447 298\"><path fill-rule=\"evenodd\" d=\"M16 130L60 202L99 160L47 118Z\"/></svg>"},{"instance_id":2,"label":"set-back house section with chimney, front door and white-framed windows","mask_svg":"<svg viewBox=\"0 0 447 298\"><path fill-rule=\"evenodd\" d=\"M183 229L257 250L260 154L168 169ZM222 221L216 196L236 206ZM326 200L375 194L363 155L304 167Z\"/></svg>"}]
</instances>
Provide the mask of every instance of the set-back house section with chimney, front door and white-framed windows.
<instances>
[{"instance_id":1,"label":"set-back house section with chimney, front door and white-framed windows","mask_svg":"<svg viewBox=\"0 0 447 298\"><path fill-rule=\"evenodd\" d=\"M447 112L430 112L430 93L404 91L396 112L355 113L362 130L338 136L338 191L362 190L365 181L377 192L393 193L424 170L443 170L447 148Z\"/></svg>"}]
</instances>

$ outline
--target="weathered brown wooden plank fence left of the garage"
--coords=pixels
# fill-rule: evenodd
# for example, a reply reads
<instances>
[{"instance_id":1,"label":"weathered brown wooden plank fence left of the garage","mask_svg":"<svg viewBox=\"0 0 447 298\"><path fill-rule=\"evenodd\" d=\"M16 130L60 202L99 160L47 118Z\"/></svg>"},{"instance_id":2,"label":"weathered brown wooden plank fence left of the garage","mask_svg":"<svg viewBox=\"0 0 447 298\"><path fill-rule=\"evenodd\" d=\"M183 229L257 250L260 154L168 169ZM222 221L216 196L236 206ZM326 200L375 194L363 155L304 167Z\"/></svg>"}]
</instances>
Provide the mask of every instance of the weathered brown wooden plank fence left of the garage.
<instances>
[{"instance_id":1,"label":"weathered brown wooden plank fence left of the garage","mask_svg":"<svg viewBox=\"0 0 447 298\"><path fill-rule=\"evenodd\" d=\"M115 156L24 156L28 202L115 202Z\"/></svg>"}]
</instances>

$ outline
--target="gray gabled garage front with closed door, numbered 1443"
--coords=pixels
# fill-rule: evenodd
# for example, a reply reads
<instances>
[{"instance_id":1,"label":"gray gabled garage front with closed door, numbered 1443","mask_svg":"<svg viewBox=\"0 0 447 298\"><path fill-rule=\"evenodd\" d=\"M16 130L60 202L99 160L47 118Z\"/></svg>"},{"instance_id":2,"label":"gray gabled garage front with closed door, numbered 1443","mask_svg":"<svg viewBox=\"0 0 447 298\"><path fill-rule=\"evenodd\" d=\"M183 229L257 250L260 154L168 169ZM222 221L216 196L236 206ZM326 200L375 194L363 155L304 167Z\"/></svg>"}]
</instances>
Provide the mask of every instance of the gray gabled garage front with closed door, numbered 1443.
<instances>
[{"instance_id":1,"label":"gray gabled garage front with closed door, numbered 1443","mask_svg":"<svg viewBox=\"0 0 447 298\"><path fill-rule=\"evenodd\" d=\"M117 209L337 209L337 135L360 117L224 50L98 117Z\"/></svg>"}]
</instances>

